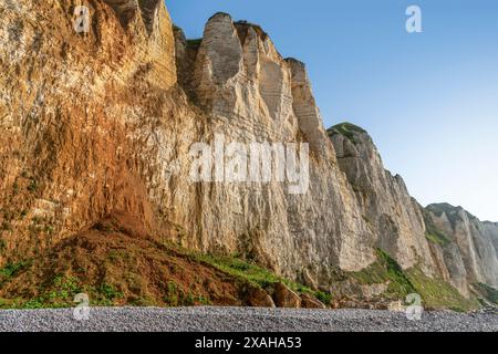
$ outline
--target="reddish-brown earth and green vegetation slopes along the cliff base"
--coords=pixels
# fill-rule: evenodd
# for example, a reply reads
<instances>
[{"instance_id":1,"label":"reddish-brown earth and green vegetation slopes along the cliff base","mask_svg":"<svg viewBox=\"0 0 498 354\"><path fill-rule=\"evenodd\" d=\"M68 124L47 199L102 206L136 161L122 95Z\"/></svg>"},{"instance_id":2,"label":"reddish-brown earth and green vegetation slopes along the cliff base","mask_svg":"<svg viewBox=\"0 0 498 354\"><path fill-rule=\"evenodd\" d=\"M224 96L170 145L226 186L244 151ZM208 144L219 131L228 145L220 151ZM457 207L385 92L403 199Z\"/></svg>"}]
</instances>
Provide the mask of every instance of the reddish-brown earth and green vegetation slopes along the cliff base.
<instances>
[{"instance_id":1,"label":"reddish-brown earth and green vegetation slopes along the cliff base","mask_svg":"<svg viewBox=\"0 0 498 354\"><path fill-rule=\"evenodd\" d=\"M113 222L97 223L46 253L0 269L0 296L6 298L0 299L0 308L74 306L77 293L89 294L92 305L243 305L248 289L258 287L272 294L279 282L325 304L332 300L330 293L278 277L239 256L203 254L173 242L142 238ZM445 239L438 236L434 241ZM387 284L382 298L391 300L418 293L428 309L468 311L478 306L476 299L465 299L418 267L403 270L381 249L376 258L360 272L338 272L338 282ZM480 288L483 296L496 302L495 290Z\"/></svg>"}]
</instances>

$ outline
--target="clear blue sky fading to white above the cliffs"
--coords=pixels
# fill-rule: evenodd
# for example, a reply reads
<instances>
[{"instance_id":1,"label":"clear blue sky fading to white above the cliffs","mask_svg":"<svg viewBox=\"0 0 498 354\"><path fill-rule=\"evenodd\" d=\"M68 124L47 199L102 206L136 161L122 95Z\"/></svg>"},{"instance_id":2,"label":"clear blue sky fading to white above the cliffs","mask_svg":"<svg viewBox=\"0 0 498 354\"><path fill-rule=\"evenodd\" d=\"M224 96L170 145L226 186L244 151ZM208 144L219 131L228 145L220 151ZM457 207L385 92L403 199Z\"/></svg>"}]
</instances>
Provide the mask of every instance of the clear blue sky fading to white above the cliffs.
<instances>
[{"instance_id":1,"label":"clear blue sky fading to white above the cliffs","mask_svg":"<svg viewBox=\"0 0 498 354\"><path fill-rule=\"evenodd\" d=\"M423 205L498 221L497 0L166 0L188 38L217 11L307 63L325 126L366 128ZM423 33L405 30L422 9Z\"/></svg>"}]
</instances>

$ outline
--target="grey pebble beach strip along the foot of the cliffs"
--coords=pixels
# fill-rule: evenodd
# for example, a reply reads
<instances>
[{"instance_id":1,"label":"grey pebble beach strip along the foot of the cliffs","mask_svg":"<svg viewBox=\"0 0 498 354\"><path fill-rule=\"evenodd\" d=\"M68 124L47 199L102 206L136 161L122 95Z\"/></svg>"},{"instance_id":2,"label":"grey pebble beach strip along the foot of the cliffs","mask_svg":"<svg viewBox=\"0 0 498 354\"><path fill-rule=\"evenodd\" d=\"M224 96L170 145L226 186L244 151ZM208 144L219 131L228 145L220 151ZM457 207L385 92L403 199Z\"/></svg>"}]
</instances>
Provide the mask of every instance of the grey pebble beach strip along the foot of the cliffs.
<instances>
[{"instance_id":1,"label":"grey pebble beach strip along the foot of the cliffs","mask_svg":"<svg viewBox=\"0 0 498 354\"><path fill-rule=\"evenodd\" d=\"M91 308L77 321L74 309L0 311L4 332L498 332L498 313L403 312L255 308Z\"/></svg>"}]
</instances>

